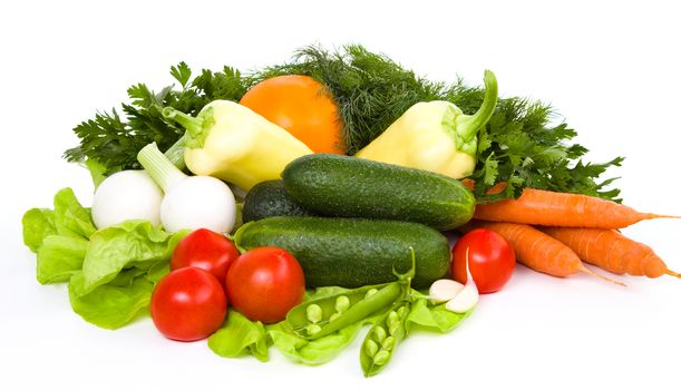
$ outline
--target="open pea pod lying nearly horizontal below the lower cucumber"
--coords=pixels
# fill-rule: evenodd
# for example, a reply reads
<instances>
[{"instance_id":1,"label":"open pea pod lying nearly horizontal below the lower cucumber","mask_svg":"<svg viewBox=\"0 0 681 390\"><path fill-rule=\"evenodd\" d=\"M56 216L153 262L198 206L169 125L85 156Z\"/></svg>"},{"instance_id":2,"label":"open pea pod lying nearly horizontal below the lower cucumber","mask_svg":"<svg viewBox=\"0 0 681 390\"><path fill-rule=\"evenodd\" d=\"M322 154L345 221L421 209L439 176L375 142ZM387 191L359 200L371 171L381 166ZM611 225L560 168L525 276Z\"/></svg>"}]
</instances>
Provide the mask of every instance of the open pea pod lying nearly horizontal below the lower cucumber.
<instances>
[{"instance_id":1,"label":"open pea pod lying nearly horizontal below the lower cucumber","mask_svg":"<svg viewBox=\"0 0 681 390\"><path fill-rule=\"evenodd\" d=\"M367 292L372 289L378 289L378 292L367 296ZM392 282L311 300L291 309L286 314L286 322L298 337L315 340L389 306L400 298L402 290L400 282ZM347 302L349 305L346 304ZM313 310L310 310L311 306ZM341 311L339 312L338 309ZM311 316L311 313L314 315ZM315 326L310 326L311 324Z\"/></svg>"}]
</instances>

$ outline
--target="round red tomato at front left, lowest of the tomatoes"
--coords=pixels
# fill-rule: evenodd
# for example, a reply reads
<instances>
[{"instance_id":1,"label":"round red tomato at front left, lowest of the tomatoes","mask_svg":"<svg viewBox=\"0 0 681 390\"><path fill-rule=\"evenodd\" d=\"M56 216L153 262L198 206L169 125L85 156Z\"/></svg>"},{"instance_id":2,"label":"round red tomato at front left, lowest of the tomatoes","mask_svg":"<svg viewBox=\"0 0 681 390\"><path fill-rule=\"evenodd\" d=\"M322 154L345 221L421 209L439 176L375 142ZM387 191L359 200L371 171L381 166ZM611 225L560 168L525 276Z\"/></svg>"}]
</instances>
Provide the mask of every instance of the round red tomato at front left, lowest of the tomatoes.
<instances>
[{"instance_id":1,"label":"round red tomato at front left, lowest of the tomatoes","mask_svg":"<svg viewBox=\"0 0 681 390\"><path fill-rule=\"evenodd\" d=\"M227 300L212 273L187 266L158 282L152 294L152 319L166 338L179 341L205 339L223 323Z\"/></svg>"}]
</instances>

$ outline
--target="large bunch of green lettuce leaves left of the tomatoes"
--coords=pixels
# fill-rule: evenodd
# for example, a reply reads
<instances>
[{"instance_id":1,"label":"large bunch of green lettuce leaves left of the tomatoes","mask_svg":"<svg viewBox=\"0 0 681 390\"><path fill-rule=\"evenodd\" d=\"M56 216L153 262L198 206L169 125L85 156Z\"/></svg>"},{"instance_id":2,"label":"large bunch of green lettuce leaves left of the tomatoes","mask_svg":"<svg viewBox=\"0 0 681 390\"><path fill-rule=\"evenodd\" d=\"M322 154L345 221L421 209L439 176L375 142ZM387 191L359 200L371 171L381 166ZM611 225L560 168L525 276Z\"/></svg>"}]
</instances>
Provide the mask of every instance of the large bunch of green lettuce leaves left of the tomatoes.
<instances>
[{"instance_id":1,"label":"large bunch of green lettuce leaves left of the tomatoes","mask_svg":"<svg viewBox=\"0 0 681 390\"><path fill-rule=\"evenodd\" d=\"M23 243L37 253L38 282L68 282L74 311L106 329L125 325L149 305L175 245L188 233L171 234L148 221L97 231L70 188L55 195L53 211L31 208L21 222Z\"/></svg>"}]
</instances>

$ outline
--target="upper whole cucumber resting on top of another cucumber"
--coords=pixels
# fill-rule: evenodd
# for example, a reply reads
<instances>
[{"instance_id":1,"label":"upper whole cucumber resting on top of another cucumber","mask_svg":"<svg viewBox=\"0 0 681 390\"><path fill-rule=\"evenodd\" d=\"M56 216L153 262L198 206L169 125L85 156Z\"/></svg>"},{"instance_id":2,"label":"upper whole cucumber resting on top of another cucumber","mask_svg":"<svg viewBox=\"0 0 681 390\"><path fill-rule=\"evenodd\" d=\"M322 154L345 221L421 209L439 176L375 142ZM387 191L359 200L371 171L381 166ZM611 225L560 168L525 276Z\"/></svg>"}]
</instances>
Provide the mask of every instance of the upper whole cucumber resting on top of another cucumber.
<instances>
[{"instance_id":1,"label":"upper whole cucumber resting on top of another cucumber","mask_svg":"<svg viewBox=\"0 0 681 390\"><path fill-rule=\"evenodd\" d=\"M418 222L445 231L473 217L475 197L440 174L363 158L312 154L282 173L286 193L323 216Z\"/></svg>"}]
</instances>

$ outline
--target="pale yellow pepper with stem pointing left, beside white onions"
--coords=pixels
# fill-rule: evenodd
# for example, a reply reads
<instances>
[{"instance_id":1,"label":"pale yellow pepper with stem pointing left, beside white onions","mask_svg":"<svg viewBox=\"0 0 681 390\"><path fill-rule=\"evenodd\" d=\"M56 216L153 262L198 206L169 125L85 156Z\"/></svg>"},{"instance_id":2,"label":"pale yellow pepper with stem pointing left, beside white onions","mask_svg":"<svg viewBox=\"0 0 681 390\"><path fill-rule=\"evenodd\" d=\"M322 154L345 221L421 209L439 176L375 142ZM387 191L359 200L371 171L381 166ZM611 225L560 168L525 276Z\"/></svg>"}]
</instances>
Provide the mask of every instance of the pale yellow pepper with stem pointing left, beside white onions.
<instances>
[{"instance_id":1,"label":"pale yellow pepper with stem pointing left, beside white onions","mask_svg":"<svg viewBox=\"0 0 681 390\"><path fill-rule=\"evenodd\" d=\"M285 129L234 101L212 101L196 117L171 107L163 115L186 128L184 160L192 173L245 191L279 178L286 164L312 153Z\"/></svg>"}]
</instances>

